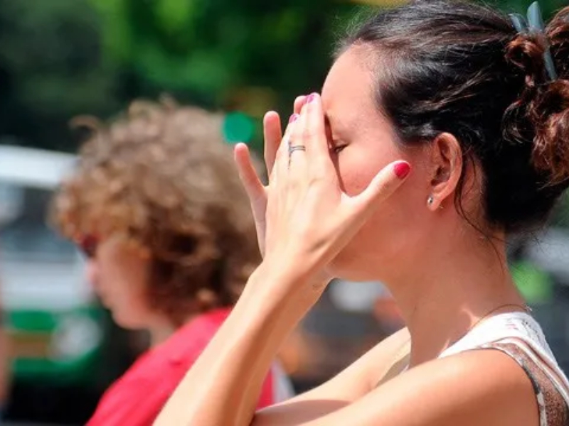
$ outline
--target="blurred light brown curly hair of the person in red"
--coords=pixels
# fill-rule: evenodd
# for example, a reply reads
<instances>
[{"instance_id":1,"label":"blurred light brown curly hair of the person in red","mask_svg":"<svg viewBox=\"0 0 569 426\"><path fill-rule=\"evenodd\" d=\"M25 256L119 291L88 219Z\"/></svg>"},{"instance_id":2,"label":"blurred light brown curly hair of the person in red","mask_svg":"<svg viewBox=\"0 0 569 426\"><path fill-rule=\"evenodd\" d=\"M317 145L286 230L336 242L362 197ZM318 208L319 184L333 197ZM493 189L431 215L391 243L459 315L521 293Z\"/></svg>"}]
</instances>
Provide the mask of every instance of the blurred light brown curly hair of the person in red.
<instances>
[{"instance_id":1,"label":"blurred light brown curly hair of the person in red","mask_svg":"<svg viewBox=\"0 0 569 426\"><path fill-rule=\"evenodd\" d=\"M233 305L260 261L222 121L167 99L134 102L110 125L78 117L90 133L53 203L68 238L122 235L149 251L148 300L176 325Z\"/></svg>"}]
</instances>

